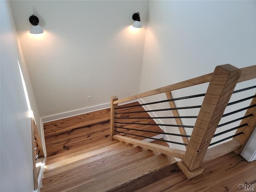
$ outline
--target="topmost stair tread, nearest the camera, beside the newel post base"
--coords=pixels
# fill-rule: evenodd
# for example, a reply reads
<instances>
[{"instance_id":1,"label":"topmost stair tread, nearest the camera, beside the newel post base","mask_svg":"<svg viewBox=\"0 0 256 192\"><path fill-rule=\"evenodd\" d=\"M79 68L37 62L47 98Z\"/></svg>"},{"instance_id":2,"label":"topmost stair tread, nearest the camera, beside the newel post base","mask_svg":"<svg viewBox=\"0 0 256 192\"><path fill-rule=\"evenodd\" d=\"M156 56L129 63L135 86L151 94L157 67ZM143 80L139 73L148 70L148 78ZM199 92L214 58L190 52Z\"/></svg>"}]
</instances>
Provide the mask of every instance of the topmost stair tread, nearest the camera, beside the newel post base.
<instances>
[{"instance_id":1,"label":"topmost stair tread, nearest the camera, beside the newel post base","mask_svg":"<svg viewBox=\"0 0 256 192\"><path fill-rule=\"evenodd\" d=\"M74 186L65 192L84 192L86 191L97 191L106 192L114 190L126 182L144 177L145 174L155 172L160 168L164 168L170 164L175 163L174 158L168 157L164 154L159 154L152 158L148 158L136 164L126 166L99 178L84 182L78 186ZM134 171L136 170L136 171ZM125 174L124 174L125 173Z\"/></svg>"}]
</instances>

